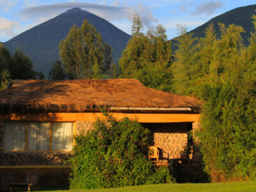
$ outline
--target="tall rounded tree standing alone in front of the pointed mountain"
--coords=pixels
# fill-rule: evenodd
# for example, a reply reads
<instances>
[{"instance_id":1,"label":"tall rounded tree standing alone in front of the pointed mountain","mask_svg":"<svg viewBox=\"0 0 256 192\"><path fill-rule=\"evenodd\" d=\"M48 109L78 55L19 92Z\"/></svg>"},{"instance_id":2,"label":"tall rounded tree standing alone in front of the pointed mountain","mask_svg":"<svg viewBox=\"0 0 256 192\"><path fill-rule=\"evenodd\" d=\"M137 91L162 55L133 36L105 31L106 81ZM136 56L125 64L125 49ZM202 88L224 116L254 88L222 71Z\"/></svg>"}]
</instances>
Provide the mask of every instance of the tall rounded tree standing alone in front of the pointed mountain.
<instances>
[{"instance_id":1,"label":"tall rounded tree standing alone in front of the pointed mountain","mask_svg":"<svg viewBox=\"0 0 256 192\"><path fill-rule=\"evenodd\" d=\"M112 62L112 48L87 20L84 20L81 28L74 25L70 29L67 37L61 40L59 49L63 68L70 79L95 77L93 66L103 74Z\"/></svg>"}]
</instances>

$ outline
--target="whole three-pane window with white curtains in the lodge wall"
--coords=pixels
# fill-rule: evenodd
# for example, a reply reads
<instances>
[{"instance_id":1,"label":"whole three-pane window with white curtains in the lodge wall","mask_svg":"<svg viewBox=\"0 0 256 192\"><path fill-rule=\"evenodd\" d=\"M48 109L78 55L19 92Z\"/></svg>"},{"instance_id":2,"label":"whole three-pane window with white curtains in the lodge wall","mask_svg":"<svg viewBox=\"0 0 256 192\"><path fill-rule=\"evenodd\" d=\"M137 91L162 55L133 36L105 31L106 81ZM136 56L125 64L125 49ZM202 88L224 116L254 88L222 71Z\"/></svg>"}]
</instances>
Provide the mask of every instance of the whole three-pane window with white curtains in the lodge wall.
<instances>
[{"instance_id":1,"label":"whole three-pane window with white curtains in the lodge wall","mask_svg":"<svg viewBox=\"0 0 256 192\"><path fill-rule=\"evenodd\" d=\"M70 151L72 122L5 122L4 150Z\"/></svg>"}]
</instances>

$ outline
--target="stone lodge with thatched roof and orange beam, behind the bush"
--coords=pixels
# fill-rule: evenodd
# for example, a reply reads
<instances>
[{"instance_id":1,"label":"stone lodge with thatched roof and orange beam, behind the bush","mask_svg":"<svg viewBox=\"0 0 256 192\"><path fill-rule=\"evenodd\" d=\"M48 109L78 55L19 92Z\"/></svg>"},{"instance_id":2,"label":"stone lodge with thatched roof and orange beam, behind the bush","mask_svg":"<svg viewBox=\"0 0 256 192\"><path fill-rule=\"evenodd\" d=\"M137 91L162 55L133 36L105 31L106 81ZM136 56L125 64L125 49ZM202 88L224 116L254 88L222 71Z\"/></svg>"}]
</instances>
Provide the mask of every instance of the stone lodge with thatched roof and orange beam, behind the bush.
<instances>
[{"instance_id":1,"label":"stone lodge with thatched roof and orange beam, behind the bush","mask_svg":"<svg viewBox=\"0 0 256 192\"><path fill-rule=\"evenodd\" d=\"M182 157L188 132L199 127L200 104L135 79L13 80L0 91L0 173L12 172L18 181L35 170L42 185L67 183L70 168L63 162L74 135L93 129L104 118L100 109L118 120L136 119L168 159Z\"/></svg>"}]
</instances>

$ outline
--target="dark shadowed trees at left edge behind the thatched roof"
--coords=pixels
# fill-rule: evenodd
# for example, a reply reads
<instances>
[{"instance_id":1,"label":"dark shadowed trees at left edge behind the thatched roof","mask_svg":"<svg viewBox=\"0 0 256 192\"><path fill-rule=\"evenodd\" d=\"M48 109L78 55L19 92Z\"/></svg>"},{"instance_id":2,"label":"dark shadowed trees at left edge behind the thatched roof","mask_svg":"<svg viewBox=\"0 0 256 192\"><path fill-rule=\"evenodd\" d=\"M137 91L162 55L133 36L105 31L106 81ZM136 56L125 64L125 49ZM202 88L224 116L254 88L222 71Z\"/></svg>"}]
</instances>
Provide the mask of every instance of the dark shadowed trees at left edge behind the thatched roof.
<instances>
[{"instance_id":1,"label":"dark shadowed trees at left edge behind the thatched roof","mask_svg":"<svg viewBox=\"0 0 256 192\"><path fill-rule=\"evenodd\" d=\"M1 86L5 87L10 79L44 79L41 72L33 70L33 61L17 50L12 54L0 43L0 76Z\"/></svg>"}]
</instances>

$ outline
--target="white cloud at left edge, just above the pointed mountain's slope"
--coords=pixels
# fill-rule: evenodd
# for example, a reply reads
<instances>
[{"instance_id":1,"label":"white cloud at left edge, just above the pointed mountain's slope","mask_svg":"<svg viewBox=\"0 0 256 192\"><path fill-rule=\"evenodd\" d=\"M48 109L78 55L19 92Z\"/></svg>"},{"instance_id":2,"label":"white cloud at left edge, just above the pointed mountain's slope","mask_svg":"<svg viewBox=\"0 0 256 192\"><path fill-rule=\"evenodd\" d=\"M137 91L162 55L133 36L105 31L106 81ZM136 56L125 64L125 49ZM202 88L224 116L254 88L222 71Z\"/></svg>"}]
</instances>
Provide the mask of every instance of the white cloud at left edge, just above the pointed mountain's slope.
<instances>
[{"instance_id":1,"label":"white cloud at left edge, just above the pointed mountain's slope","mask_svg":"<svg viewBox=\"0 0 256 192\"><path fill-rule=\"evenodd\" d=\"M17 35L17 31L20 29L22 29L22 27L19 25L19 22L0 17L0 36L12 38Z\"/></svg>"}]
</instances>

